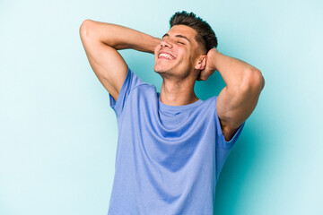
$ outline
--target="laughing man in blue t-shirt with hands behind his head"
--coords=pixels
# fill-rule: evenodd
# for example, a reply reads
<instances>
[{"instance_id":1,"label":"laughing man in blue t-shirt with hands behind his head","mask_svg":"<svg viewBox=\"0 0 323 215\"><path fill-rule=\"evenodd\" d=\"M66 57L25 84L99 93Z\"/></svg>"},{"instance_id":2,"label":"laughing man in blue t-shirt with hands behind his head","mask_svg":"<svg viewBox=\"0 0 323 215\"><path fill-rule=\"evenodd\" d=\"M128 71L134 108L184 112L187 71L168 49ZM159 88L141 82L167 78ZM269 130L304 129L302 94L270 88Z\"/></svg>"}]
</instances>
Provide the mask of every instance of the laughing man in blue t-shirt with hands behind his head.
<instances>
[{"instance_id":1,"label":"laughing man in blue t-shirt with hands behind his head","mask_svg":"<svg viewBox=\"0 0 323 215\"><path fill-rule=\"evenodd\" d=\"M109 215L214 213L223 162L258 103L264 78L254 66L218 52L211 27L175 13L162 39L85 20L80 35L118 119L118 149ZM127 66L119 49L154 54L161 93ZM218 71L219 96L196 97L196 80Z\"/></svg>"}]
</instances>

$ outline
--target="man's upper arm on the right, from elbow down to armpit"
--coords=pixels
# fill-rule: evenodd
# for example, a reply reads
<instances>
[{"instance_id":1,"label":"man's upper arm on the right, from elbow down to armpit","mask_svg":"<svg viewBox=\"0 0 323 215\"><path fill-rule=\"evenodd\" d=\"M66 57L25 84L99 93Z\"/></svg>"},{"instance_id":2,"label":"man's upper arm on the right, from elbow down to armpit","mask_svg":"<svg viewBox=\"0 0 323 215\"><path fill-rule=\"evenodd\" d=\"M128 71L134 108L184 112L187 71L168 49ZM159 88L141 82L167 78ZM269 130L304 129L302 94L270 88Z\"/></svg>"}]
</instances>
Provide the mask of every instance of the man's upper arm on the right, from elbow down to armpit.
<instances>
[{"instance_id":1,"label":"man's upper arm on the right, from elbow down to armpit","mask_svg":"<svg viewBox=\"0 0 323 215\"><path fill-rule=\"evenodd\" d=\"M217 115L227 141L251 115L265 85L265 80L258 70L249 72L246 84L233 90L224 87L216 102Z\"/></svg>"}]
</instances>

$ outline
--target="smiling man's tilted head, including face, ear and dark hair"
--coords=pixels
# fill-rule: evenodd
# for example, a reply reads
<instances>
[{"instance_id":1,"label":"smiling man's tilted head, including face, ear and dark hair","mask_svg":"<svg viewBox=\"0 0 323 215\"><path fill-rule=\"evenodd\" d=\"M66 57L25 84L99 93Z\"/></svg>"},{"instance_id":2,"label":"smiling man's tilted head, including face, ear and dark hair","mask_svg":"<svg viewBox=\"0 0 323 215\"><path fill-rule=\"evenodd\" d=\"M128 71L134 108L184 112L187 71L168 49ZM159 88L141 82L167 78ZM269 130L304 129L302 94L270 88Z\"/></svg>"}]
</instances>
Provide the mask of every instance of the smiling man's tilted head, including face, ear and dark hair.
<instances>
[{"instance_id":1,"label":"smiling man's tilted head, including face, ear and dark hair","mask_svg":"<svg viewBox=\"0 0 323 215\"><path fill-rule=\"evenodd\" d=\"M164 78L197 77L213 47L217 47L217 39L207 22L194 13L175 13L170 18L170 30L155 47L154 70Z\"/></svg>"}]
</instances>

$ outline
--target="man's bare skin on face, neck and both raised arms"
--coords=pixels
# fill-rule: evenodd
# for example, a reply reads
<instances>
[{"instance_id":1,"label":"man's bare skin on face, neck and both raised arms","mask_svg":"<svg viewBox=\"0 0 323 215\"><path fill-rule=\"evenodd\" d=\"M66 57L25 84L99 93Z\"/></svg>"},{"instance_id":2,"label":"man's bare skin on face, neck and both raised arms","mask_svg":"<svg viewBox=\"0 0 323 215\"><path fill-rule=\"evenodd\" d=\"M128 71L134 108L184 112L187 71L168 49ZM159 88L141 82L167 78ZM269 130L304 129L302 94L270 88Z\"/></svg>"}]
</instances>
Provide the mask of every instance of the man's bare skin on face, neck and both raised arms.
<instances>
[{"instance_id":1,"label":"man's bare skin on face, neck and both raised arms","mask_svg":"<svg viewBox=\"0 0 323 215\"><path fill-rule=\"evenodd\" d=\"M158 39L124 26L86 20L80 36L94 73L116 101L127 76L127 64L117 51L120 49L154 54L154 71L163 79L160 99L166 105L195 102L198 99L195 82L206 81L215 71L221 73L226 86L217 98L216 111L226 141L231 140L251 115L265 86L262 73L256 67L225 56L216 48L206 53L195 39L196 30L185 25L173 26L166 36ZM159 58L161 51L175 59Z\"/></svg>"}]
</instances>

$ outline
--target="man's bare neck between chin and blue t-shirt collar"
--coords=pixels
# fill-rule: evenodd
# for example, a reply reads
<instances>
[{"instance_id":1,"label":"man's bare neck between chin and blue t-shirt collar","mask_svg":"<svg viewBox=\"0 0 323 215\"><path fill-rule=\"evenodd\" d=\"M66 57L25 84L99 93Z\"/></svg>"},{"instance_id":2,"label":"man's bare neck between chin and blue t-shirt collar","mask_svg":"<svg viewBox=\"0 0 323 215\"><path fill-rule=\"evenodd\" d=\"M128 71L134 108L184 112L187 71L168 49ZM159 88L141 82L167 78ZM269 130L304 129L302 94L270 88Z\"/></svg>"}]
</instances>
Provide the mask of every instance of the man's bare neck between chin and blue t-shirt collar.
<instances>
[{"instance_id":1,"label":"man's bare neck between chin and blue t-shirt collar","mask_svg":"<svg viewBox=\"0 0 323 215\"><path fill-rule=\"evenodd\" d=\"M195 82L162 81L160 99L163 104L170 106L183 106L198 100L194 92Z\"/></svg>"}]
</instances>

